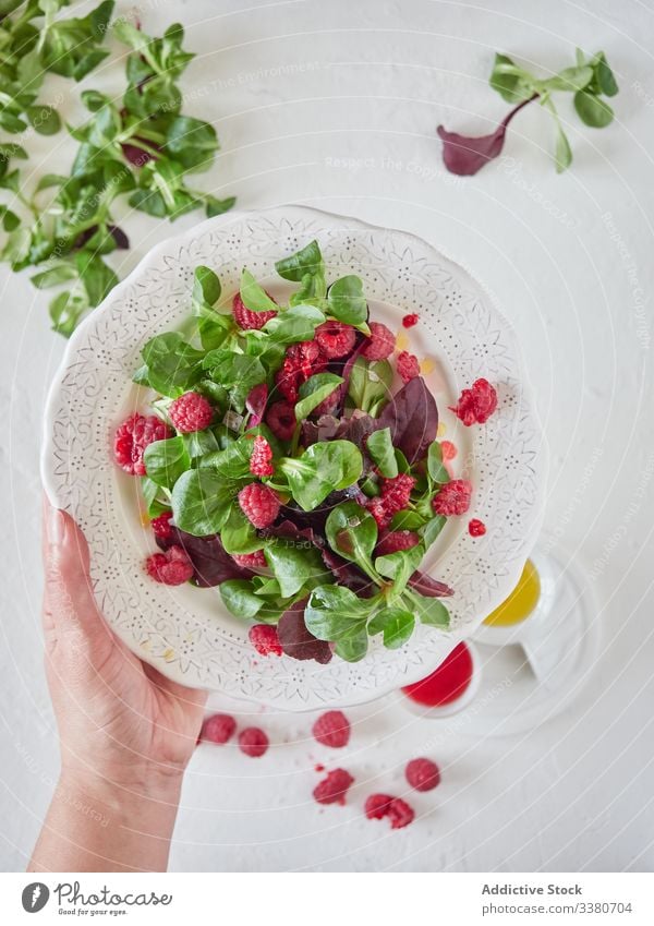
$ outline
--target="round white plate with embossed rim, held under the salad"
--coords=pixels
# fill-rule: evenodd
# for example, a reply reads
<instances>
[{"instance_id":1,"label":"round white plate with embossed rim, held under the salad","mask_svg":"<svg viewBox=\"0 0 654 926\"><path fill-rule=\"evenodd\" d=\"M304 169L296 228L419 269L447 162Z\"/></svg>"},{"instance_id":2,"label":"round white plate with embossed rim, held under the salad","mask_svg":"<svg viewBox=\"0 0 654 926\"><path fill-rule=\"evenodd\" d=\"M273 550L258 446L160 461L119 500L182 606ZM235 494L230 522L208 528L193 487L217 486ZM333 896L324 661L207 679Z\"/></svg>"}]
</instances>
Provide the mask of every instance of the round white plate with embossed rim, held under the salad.
<instances>
[{"instance_id":1,"label":"round white plate with embossed rim, held under the salad","mask_svg":"<svg viewBox=\"0 0 654 926\"><path fill-rule=\"evenodd\" d=\"M149 579L143 563L156 548L140 519L137 480L112 461L116 426L145 399L131 383L140 350L187 316L195 266L213 267L223 290L235 291L243 266L272 279L275 261L313 238L328 279L361 276L373 320L403 332L427 360L441 436L459 448L456 474L474 484L470 514L450 519L426 564L456 590L451 632L421 626L399 650L372 641L363 661L335 657L326 666L261 658L249 624L226 613L216 589ZM274 287L283 290L283 281ZM421 321L405 332L409 312ZM499 407L485 425L464 428L447 406L480 376L497 387ZM541 525L544 470L513 333L480 286L411 234L299 206L231 213L155 248L71 338L48 400L43 454L48 495L84 530L98 602L131 649L186 685L284 710L366 701L432 672L517 584ZM486 524L485 537L469 536L469 517Z\"/></svg>"}]
</instances>

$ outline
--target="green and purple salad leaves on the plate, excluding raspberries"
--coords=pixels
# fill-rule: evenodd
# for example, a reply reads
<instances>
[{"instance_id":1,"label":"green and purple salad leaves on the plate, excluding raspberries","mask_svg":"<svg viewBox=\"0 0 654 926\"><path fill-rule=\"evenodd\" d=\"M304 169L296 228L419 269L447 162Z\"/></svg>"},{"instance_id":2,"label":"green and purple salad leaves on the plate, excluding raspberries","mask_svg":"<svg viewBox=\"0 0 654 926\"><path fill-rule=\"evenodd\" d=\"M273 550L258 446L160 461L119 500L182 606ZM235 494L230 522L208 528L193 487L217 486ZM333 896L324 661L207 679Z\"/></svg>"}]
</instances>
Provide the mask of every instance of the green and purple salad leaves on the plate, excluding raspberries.
<instances>
[{"instance_id":1,"label":"green and purple salad leaves on the plate, excluding raspberries","mask_svg":"<svg viewBox=\"0 0 654 926\"><path fill-rule=\"evenodd\" d=\"M197 267L185 329L157 335L143 348L135 382L154 390L152 407L172 435L145 449L143 495L150 517L172 516L172 537L160 545L182 545L198 584L219 585L232 614L280 629L286 617L303 614L302 634L356 661L370 636L380 634L392 649L416 622L449 625L439 599L451 590L419 570L446 522L432 505L449 479L436 440L438 413L422 377L393 395L391 363L363 356L371 328L359 277L327 286L316 241L276 268L298 285L288 304L272 300L247 269L234 299L251 313L268 313L261 327L243 329L217 275ZM292 408L294 426L280 435L280 368L329 322L355 333L349 356L306 376ZM208 399L213 418L203 430L182 433L171 406L189 393ZM270 472L255 480L251 457L262 437L271 450ZM388 528L415 531L417 542L384 555L370 508L385 481L402 474L410 477L410 496ZM254 482L279 503L264 529L239 504ZM257 551L265 568L253 574L239 557Z\"/></svg>"}]
</instances>

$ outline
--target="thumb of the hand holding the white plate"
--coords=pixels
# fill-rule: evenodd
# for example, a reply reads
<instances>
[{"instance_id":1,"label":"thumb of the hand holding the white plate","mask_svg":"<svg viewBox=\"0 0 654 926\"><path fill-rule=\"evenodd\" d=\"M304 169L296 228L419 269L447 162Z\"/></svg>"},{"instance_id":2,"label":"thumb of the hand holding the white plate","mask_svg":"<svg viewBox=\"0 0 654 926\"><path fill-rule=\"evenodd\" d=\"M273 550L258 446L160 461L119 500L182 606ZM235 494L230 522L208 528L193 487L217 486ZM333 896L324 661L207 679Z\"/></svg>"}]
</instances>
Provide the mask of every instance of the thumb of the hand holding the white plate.
<instances>
[{"instance_id":1,"label":"thumb of the hand holding the white plate","mask_svg":"<svg viewBox=\"0 0 654 926\"><path fill-rule=\"evenodd\" d=\"M112 645L112 634L100 614L88 572L88 545L65 512L45 503L44 626L57 645L83 650L96 662Z\"/></svg>"}]
</instances>

